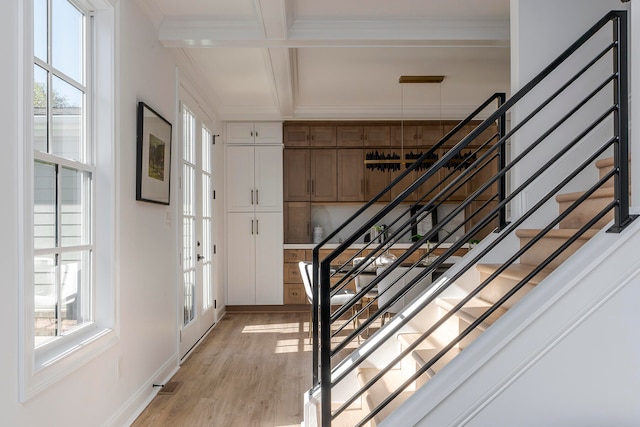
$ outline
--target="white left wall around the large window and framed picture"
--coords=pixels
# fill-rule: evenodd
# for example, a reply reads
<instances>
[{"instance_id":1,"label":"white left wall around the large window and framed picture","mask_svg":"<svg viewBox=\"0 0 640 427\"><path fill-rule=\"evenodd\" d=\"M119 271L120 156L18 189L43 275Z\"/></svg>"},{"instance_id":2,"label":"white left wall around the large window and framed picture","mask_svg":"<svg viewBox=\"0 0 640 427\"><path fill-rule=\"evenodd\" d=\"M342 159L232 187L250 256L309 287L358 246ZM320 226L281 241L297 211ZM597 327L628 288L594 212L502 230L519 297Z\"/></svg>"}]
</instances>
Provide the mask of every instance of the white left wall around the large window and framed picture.
<instances>
[{"instance_id":1,"label":"white left wall around the large window and framed picture","mask_svg":"<svg viewBox=\"0 0 640 427\"><path fill-rule=\"evenodd\" d=\"M23 82L20 9L24 0L5 0L0 13L0 412L12 426L124 425L153 397L151 384L177 369L178 236L177 158L173 156L171 206L135 200L136 104L144 101L173 123L177 144L176 60L157 41L156 31L135 1L117 1L116 15L116 307L117 343L25 403L19 402L18 224L20 117ZM7 65L8 64L8 65ZM167 222L167 218L170 220ZM100 226L99 224L97 225ZM29 261L27 261L29 262ZM28 282L28 281L27 281Z\"/></svg>"}]
</instances>

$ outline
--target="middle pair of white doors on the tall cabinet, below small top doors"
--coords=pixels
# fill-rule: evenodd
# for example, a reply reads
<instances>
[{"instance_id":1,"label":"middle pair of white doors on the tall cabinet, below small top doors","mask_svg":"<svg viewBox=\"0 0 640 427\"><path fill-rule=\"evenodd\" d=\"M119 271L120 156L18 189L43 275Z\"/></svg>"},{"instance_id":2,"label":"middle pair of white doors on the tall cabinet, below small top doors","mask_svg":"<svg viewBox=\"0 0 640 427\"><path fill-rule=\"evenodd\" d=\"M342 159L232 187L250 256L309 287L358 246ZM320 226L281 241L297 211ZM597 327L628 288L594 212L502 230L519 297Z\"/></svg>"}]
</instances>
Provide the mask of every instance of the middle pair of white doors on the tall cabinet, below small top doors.
<instances>
[{"instance_id":1,"label":"middle pair of white doors on the tall cabinet, below small top doors","mask_svg":"<svg viewBox=\"0 0 640 427\"><path fill-rule=\"evenodd\" d=\"M282 212L282 146L227 147L227 211Z\"/></svg>"}]
</instances>

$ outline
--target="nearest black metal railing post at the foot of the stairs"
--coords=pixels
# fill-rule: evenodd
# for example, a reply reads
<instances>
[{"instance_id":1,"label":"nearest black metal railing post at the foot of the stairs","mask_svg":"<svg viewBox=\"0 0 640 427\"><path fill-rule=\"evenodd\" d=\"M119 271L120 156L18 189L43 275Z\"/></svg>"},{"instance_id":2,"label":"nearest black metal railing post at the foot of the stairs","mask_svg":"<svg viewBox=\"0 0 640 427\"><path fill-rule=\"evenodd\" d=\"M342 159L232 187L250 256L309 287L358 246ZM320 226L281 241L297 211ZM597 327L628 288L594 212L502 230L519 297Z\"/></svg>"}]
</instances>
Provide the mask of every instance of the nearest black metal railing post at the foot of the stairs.
<instances>
[{"instance_id":1,"label":"nearest black metal railing post at the foot of the stairs","mask_svg":"<svg viewBox=\"0 0 640 427\"><path fill-rule=\"evenodd\" d=\"M322 427L331 426L331 290L330 265L320 264L320 399Z\"/></svg>"}]
</instances>

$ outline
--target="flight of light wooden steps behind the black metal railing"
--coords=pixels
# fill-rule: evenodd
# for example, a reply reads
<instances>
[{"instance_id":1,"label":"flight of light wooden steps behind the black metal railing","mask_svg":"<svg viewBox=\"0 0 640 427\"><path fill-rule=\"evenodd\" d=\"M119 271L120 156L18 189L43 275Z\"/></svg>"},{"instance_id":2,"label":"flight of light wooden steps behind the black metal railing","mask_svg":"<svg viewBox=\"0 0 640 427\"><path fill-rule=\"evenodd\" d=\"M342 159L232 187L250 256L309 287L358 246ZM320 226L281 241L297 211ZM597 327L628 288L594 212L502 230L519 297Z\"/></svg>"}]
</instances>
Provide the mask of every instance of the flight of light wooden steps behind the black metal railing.
<instances>
[{"instance_id":1,"label":"flight of light wooden steps behind the black metal railing","mask_svg":"<svg viewBox=\"0 0 640 427\"><path fill-rule=\"evenodd\" d=\"M611 171L613 167L613 158L599 160L595 163L595 166L598 168L600 177L602 178ZM558 195L556 197L556 201L558 203L559 213L562 213L570 202L574 202L583 194L584 193L581 192ZM558 250L558 248L565 244L571 236L574 236L578 232L578 229L585 226L591 218L605 208L613 199L613 181L609 181L606 184L606 187L588 197L583 204L583 208L579 212L572 213L567 220L560 222L559 228L550 230L541 239L539 239L531 249L520 258L520 262L511 265L504 271L497 273L497 275L496 271L498 271L502 264L477 264L475 268L480 273L480 282L488 281L488 284L482 289L478 296L466 301L459 310L452 313L452 316L448 321L455 325L453 335L460 334L474 322L477 322L481 314L485 313L489 307L497 303L502 296L509 292L509 290L513 289L521 281L526 280L526 282L513 297L502 304L486 319L480 321L478 327L474 329L473 333L467 335L450 350L445 351L441 357L438 357L439 353L443 351L443 347L451 339L450 335L452 335L452 331L450 329L448 331L441 331L440 335L437 333L433 334L429 339L422 341L416 346L416 348L410 351L409 357L405 358L406 360L403 360L396 369L391 369L384 373L381 379L376 381L374 385L363 394L363 409L358 410L357 407L351 409L349 417L345 417L343 420L344 424L340 424L339 420L336 420L335 425L351 425L351 420L373 411L378 405L384 402L392 392L401 387L411 375L420 370L424 370L425 372L415 380L415 384L413 386L405 389L392 401L391 404L386 405L382 411L378 412L370 421L368 421L368 423L365 424L370 426L378 425L387 415L400 407L400 405L402 405L402 403L413 394L413 390L423 386L440 369L446 366L455 356L470 345L484 330L489 328L504 313L506 313L513 304L515 304L520 298L524 297L527 292L533 289L533 287L544 281L544 279L557 266L565 262L575 251L580 249L580 247L586 244L591 237L609 223L613 219L611 213L604 216L592 228L589 228L584 232L557 258L550 262L547 267L542 269L542 271L531 278L527 278L527 276L530 275L538 265L545 261L549 254ZM520 246L524 247L540 232L540 229L518 229L515 234L520 241ZM496 277L489 280L489 278L494 275ZM439 318L441 319L443 315L451 313L452 308L461 301L462 297L460 296L454 297L442 295L438 297L435 300L435 303L439 309ZM400 350L410 347L424 332L424 330L421 330L397 334L398 347ZM429 365L426 366L427 364ZM360 386L365 386L380 373L380 369L375 367L358 368L357 378L360 382ZM358 416L355 416L355 413L357 413Z\"/></svg>"}]
</instances>

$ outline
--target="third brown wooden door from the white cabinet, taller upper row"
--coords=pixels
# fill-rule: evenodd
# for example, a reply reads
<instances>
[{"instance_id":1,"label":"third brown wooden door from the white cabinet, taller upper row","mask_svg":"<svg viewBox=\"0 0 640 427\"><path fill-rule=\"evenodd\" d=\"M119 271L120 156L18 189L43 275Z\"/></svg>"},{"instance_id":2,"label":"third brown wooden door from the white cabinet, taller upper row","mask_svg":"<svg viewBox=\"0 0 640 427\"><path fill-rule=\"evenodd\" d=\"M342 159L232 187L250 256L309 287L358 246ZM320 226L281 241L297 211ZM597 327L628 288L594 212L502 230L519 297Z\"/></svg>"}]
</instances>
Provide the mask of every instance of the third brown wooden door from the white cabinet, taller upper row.
<instances>
[{"instance_id":1,"label":"third brown wooden door from the white cabinet, taller upper row","mask_svg":"<svg viewBox=\"0 0 640 427\"><path fill-rule=\"evenodd\" d=\"M364 154L362 149L338 150L338 201L364 200Z\"/></svg>"}]
</instances>

